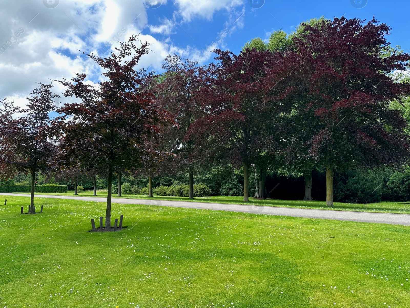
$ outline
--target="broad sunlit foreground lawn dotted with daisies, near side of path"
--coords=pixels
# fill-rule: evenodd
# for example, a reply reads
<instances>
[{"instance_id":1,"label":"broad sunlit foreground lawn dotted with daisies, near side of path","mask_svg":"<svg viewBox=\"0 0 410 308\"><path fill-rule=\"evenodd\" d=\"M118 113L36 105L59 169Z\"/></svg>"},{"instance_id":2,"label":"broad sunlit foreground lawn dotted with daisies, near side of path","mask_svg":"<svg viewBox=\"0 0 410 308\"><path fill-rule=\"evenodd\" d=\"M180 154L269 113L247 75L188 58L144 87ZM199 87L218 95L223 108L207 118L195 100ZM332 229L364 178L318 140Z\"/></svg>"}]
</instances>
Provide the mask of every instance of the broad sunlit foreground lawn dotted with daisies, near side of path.
<instances>
[{"instance_id":1,"label":"broad sunlit foreground lawn dotted with daisies, near side of path","mask_svg":"<svg viewBox=\"0 0 410 308\"><path fill-rule=\"evenodd\" d=\"M92 233L103 202L7 199L0 307L410 307L409 226L113 204Z\"/></svg>"}]
</instances>

